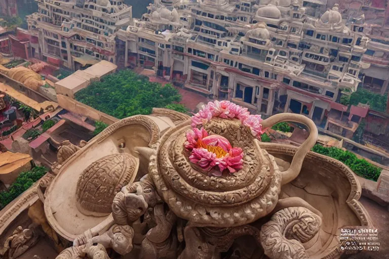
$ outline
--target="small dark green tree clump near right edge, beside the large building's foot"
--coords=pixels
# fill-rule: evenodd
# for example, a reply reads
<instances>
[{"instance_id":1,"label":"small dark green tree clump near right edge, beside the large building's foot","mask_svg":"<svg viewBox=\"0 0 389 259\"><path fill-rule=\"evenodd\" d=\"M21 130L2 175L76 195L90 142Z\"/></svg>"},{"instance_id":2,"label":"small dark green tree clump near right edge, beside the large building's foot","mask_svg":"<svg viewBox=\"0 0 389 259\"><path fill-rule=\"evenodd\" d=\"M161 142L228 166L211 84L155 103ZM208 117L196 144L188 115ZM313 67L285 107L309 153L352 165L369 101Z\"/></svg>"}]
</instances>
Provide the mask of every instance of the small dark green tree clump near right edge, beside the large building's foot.
<instances>
[{"instance_id":1,"label":"small dark green tree clump near right edge, beside the large building's foot","mask_svg":"<svg viewBox=\"0 0 389 259\"><path fill-rule=\"evenodd\" d=\"M365 89L358 89L350 96L350 104L369 103L370 109L384 112L386 110L387 94L381 96Z\"/></svg>"}]
</instances>

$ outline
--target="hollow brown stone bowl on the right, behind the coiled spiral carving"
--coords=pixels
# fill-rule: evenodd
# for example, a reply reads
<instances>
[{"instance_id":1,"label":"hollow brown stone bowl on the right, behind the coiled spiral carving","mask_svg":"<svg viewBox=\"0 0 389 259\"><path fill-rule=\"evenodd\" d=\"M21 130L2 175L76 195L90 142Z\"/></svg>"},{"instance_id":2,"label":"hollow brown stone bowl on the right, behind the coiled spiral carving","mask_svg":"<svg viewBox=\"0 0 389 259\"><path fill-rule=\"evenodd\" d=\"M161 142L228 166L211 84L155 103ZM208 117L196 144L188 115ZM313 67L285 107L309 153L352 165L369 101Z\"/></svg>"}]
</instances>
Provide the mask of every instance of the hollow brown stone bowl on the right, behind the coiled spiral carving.
<instances>
[{"instance_id":1,"label":"hollow brown stone bowl on the right, behind the coiled spiral carving","mask_svg":"<svg viewBox=\"0 0 389 259\"><path fill-rule=\"evenodd\" d=\"M260 143L281 166L289 166L297 147ZM308 152L298 177L282 186L280 199L300 197L322 214L318 240L305 247L309 258L339 258L341 228L373 228L369 214L359 202L361 185L353 171L340 161Z\"/></svg>"}]
</instances>

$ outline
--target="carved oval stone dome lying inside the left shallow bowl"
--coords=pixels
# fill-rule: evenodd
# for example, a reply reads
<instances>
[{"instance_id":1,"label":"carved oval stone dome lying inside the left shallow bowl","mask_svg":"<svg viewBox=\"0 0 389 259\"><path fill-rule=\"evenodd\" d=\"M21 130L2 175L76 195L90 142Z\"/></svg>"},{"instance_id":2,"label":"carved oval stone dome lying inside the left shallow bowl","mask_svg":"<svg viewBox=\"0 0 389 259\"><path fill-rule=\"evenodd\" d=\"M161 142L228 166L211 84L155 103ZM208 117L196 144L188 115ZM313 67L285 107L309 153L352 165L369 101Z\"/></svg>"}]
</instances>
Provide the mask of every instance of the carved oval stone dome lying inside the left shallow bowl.
<instances>
[{"instance_id":1,"label":"carved oval stone dome lying inside the left shallow bowl","mask_svg":"<svg viewBox=\"0 0 389 259\"><path fill-rule=\"evenodd\" d=\"M77 183L79 210L96 217L109 214L114 196L135 179L138 168L139 161L128 153L107 155L93 162Z\"/></svg>"}]
</instances>

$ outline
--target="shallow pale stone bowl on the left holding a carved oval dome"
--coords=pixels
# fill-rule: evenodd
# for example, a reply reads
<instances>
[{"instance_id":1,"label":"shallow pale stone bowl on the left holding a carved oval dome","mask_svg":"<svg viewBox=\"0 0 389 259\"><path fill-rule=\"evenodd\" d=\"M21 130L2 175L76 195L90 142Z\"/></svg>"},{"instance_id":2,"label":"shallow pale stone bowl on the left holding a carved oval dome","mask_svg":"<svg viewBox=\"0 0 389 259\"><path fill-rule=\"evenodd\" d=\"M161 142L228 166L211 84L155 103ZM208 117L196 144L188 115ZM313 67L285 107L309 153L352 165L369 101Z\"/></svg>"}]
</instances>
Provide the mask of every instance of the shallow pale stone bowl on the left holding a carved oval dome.
<instances>
[{"instance_id":1,"label":"shallow pale stone bowl on the left holding a carved oval dome","mask_svg":"<svg viewBox=\"0 0 389 259\"><path fill-rule=\"evenodd\" d=\"M44 203L53 229L72 241L88 229L99 232L109 226L114 195L132 183L138 172L134 148L154 145L159 131L147 116L129 117L108 126L69 157L49 186Z\"/></svg>"}]
</instances>

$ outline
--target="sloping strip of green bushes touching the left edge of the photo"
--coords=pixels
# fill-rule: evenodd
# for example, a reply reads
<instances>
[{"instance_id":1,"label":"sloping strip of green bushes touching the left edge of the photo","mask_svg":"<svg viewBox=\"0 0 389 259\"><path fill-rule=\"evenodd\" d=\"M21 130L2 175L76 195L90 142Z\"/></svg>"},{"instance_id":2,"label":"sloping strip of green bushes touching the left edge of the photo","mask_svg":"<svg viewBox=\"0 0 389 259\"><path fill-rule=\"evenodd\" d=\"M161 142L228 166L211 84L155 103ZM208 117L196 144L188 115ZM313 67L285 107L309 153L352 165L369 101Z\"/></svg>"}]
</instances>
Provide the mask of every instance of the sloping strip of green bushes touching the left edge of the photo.
<instances>
[{"instance_id":1,"label":"sloping strip of green bushes touching the left edge of the photo","mask_svg":"<svg viewBox=\"0 0 389 259\"><path fill-rule=\"evenodd\" d=\"M3 209L8 203L30 188L46 172L47 169L42 166L36 166L29 171L22 172L7 191L0 192L0 209Z\"/></svg>"}]
</instances>

